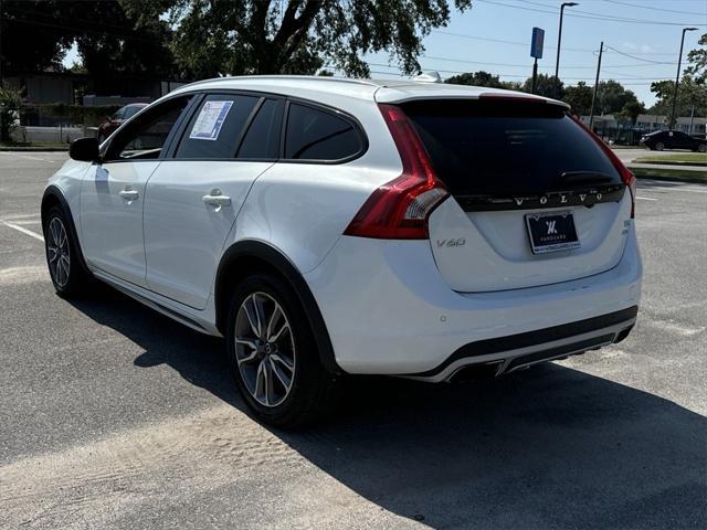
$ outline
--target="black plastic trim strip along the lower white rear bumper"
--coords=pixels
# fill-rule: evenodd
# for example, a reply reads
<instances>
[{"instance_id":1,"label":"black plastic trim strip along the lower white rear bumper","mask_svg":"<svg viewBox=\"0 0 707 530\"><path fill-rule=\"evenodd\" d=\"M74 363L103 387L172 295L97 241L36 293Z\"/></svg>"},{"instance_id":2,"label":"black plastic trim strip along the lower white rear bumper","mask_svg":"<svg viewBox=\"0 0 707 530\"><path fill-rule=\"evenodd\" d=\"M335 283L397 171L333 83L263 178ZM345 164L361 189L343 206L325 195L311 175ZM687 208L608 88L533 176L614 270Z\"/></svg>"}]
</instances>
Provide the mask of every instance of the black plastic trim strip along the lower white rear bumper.
<instances>
[{"instance_id":1,"label":"black plastic trim strip along the lower white rear bumper","mask_svg":"<svg viewBox=\"0 0 707 530\"><path fill-rule=\"evenodd\" d=\"M539 346L546 342L551 342L555 340L568 339L571 337L576 337L578 335L590 333L592 331L598 331L603 328L608 328L610 326L615 326L618 324L626 322L633 320L639 314L639 306L629 307L627 309L622 309L621 311L610 312L606 315L601 315L599 317L587 318L584 320L577 320L574 322L562 324L560 326L552 326L550 328L542 328L535 331L527 331L525 333L517 335L508 335L506 337L497 337L494 339L485 339L477 340L476 342L469 342L468 344L464 344L458 348L454 353L452 353L442 364L432 370L428 370L426 372L419 373L410 373L408 375L415 378L430 378L439 374L444 369L446 369L450 364L460 359L474 358L481 356L488 356L492 353L500 353L504 351L518 350L520 348L528 348L532 346ZM630 324L626 326L631 326ZM603 338L603 337L602 337ZM591 339L595 341L597 339ZM564 344L560 348L570 348L567 352L578 351L583 346L574 344ZM574 348L572 348L574 347ZM592 344L587 346L587 348L591 348ZM551 350L544 350L542 352L538 352L538 354L545 354L546 359L551 359L552 357L558 357L562 354L562 351L559 351L555 354L548 356L548 352ZM528 356L525 356L526 358ZM521 364L527 364L534 361L521 362ZM510 369L510 367L508 367Z\"/></svg>"}]
</instances>

